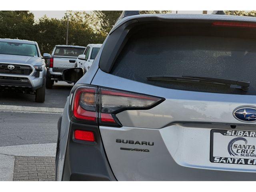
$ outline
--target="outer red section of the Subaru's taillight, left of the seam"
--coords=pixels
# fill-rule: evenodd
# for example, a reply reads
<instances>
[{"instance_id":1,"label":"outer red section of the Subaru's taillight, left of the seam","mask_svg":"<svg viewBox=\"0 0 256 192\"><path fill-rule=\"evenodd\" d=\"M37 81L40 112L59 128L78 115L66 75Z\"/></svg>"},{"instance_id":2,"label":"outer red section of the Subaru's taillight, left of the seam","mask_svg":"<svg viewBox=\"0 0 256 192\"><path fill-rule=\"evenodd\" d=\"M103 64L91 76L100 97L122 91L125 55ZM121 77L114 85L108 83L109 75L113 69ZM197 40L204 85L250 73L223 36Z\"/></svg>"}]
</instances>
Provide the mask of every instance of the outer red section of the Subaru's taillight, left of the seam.
<instances>
[{"instance_id":1,"label":"outer red section of the Subaru's taillight, left of the seam","mask_svg":"<svg viewBox=\"0 0 256 192\"><path fill-rule=\"evenodd\" d=\"M97 122L96 88L80 87L74 94L73 114L80 120Z\"/></svg>"}]
</instances>

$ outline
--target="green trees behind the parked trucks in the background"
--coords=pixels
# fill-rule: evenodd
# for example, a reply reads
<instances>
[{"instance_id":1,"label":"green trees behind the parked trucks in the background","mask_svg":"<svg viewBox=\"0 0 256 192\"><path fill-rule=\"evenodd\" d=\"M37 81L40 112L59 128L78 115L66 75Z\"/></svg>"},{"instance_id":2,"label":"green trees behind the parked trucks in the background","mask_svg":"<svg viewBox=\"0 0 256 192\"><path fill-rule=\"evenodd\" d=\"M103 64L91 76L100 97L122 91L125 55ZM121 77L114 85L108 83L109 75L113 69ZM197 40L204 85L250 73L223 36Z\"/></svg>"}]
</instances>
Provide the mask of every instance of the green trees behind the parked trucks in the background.
<instances>
[{"instance_id":1,"label":"green trees behind the parked trucks in the background","mask_svg":"<svg viewBox=\"0 0 256 192\"><path fill-rule=\"evenodd\" d=\"M140 11L146 13L169 13L171 11ZM68 44L86 46L102 43L122 11L68 12ZM61 19L43 16L34 20L29 11L0 11L0 38L18 38L38 42L42 53L51 53L57 44L66 44L66 16Z\"/></svg>"}]
</instances>

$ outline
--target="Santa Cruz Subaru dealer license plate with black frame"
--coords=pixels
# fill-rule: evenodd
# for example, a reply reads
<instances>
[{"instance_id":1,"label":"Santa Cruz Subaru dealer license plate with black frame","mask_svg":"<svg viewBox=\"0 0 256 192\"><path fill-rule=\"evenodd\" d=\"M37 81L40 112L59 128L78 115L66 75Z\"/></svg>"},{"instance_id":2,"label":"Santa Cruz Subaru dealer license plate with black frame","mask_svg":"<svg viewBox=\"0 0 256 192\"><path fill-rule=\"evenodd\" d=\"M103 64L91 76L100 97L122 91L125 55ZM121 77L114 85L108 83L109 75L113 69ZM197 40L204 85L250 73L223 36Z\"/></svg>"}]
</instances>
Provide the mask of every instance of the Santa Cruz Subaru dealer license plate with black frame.
<instances>
[{"instance_id":1,"label":"Santa Cruz Subaru dealer license plate with black frame","mask_svg":"<svg viewBox=\"0 0 256 192\"><path fill-rule=\"evenodd\" d=\"M254 142L252 142L252 140L254 140ZM218 142L220 142L220 144ZM218 148L215 149L214 147L216 146ZM256 150L254 150L254 148L256 148L255 131L221 129L212 129L210 131L210 162L212 163L243 164L255 166ZM220 152L221 150L222 152Z\"/></svg>"}]
</instances>

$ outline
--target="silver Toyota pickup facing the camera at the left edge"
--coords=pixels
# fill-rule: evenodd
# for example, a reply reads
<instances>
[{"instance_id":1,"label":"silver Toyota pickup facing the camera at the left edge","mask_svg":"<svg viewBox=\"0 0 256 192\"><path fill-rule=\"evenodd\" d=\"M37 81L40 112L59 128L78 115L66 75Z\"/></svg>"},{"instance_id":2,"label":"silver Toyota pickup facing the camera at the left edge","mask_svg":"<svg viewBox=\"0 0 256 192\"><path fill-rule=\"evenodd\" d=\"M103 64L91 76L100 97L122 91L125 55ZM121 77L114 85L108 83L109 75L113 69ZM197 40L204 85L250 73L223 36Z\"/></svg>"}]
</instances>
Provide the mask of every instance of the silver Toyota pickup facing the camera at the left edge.
<instances>
[{"instance_id":1,"label":"silver Toyota pickup facing the camera at the left edge","mask_svg":"<svg viewBox=\"0 0 256 192\"><path fill-rule=\"evenodd\" d=\"M44 58L50 58L44 54ZM0 90L35 94L44 102L46 67L34 41L0 39Z\"/></svg>"}]
</instances>

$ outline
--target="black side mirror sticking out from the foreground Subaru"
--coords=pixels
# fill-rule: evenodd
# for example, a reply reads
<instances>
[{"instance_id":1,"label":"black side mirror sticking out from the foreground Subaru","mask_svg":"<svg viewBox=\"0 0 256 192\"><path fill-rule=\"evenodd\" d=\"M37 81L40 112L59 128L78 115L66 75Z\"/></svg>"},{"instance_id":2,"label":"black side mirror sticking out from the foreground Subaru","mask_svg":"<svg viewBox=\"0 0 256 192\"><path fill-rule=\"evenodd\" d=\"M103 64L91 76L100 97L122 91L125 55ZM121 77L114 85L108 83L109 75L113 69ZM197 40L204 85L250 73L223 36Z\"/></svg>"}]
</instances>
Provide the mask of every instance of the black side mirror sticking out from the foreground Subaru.
<instances>
[{"instance_id":1,"label":"black side mirror sticking out from the foreground Subaru","mask_svg":"<svg viewBox=\"0 0 256 192\"><path fill-rule=\"evenodd\" d=\"M62 79L68 83L76 83L83 75L83 68L68 68L62 71Z\"/></svg>"}]
</instances>

